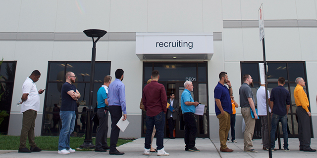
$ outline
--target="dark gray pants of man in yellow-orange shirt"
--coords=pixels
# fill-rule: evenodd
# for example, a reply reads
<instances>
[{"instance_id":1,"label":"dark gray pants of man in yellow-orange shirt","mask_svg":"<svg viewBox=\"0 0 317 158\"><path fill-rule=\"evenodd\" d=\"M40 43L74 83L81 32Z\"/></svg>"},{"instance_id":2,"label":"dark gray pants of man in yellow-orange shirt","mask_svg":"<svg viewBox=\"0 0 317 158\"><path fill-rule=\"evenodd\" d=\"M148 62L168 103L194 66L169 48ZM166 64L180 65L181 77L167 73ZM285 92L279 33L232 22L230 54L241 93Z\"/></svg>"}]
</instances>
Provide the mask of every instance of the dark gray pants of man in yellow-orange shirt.
<instances>
[{"instance_id":1,"label":"dark gray pants of man in yellow-orange shirt","mask_svg":"<svg viewBox=\"0 0 317 158\"><path fill-rule=\"evenodd\" d=\"M310 150L311 149L311 123L309 116L302 106L296 108L296 114L298 117L298 139L299 149Z\"/></svg>"}]
</instances>

